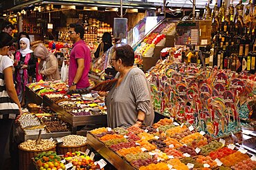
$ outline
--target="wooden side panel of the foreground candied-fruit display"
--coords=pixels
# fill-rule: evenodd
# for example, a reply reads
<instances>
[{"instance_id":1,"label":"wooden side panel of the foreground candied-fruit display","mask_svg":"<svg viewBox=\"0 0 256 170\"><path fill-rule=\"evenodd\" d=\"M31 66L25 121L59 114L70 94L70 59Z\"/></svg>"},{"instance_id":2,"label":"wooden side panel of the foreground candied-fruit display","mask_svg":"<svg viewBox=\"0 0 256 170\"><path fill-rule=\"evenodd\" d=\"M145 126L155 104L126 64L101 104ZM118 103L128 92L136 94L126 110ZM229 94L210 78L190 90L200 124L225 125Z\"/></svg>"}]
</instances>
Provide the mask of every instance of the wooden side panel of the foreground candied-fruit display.
<instances>
[{"instance_id":1,"label":"wooden side panel of the foreground candied-fruit display","mask_svg":"<svg viewBox=\"0 0 256 170\"><path fill-rule=\"evenodd\" d=\"M123 160L120 156L118 156L117 153L109 149L106 145L104 145L103 142L100 142L100 140L95 138L90 132L87 133L86 137L88 145L93 147L95 151L100 153L101 156L103 156L107 161L113 164L116 169L136 170L136 168L132 167L129 162Z\"/></svg>"}]
</instances>

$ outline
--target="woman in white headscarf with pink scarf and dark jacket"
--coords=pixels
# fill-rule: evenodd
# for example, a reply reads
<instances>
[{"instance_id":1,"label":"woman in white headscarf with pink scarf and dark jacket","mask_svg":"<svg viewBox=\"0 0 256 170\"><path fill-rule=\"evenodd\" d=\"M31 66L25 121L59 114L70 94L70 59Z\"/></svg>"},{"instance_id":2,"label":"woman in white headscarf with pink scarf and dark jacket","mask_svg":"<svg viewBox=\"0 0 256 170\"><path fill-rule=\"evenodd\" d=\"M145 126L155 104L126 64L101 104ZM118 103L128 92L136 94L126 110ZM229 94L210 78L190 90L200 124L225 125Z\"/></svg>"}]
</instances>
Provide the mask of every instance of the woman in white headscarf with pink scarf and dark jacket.
<instances>
[{"instance_id":1,"label":"woman in white headscarf with pink scarf and dark jacket","mask_svg":"<svg viewBox=\"0 0 256 170\"><path fill-rule=\"evenodd\" d=\"M35 65L37 59L30 50L30 41L23 37L19 40L20 49L15 53L15 81L17 82L17 94L21 106L25 105L25 87L28 84L29 76L35 76Z\"/></svg>"}]
</instances>

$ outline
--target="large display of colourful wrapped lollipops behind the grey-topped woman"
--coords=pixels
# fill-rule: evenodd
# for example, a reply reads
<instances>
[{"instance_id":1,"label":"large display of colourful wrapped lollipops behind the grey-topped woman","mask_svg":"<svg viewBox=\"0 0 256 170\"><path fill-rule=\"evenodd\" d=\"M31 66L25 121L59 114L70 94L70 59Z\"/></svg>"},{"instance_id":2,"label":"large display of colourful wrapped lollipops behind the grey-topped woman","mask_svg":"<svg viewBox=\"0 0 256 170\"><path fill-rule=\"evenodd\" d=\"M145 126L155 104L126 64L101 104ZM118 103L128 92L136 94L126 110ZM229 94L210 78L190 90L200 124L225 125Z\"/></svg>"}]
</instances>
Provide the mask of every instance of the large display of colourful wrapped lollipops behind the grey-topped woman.
<instances>
[{"instance_id":1,"label":"large display of colourful wrapped lollipops behind the grey-topped woman","mask_svg":"<svg viewBox=\"0 0 256 170\"><path fill-rule=\"evenodd\" d=\"M156 111L214 138L241 131L240 118L249 116L250 111L239 111L237 103L253 95L253 76L164 60L147 79Z\"/></svg>"}]
</instances>

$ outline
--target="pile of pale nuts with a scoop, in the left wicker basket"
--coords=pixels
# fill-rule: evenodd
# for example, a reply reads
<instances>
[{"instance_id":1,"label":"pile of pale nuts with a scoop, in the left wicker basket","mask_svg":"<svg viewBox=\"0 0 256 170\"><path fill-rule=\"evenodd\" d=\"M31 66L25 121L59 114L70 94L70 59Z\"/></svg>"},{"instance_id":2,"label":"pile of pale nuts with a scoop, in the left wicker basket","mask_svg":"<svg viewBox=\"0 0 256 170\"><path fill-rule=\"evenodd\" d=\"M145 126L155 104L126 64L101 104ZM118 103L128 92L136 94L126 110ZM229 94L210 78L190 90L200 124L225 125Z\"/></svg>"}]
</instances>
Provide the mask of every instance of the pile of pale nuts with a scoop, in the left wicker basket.
<instances>
[{"instance_id":1,"label":"pile of pale nuts with a scoop, in the left wicker basket","mask_svg":"<svg viewBox=\"0 0 256 170\"><path fill-rule=\"evenodd\" d=\"M28 151L44 151L55 147L55 143L48 139L42 139L38 145L35 144L35 140L27 140L19 145L21 149Z\"/></svg>"}]
</instances>

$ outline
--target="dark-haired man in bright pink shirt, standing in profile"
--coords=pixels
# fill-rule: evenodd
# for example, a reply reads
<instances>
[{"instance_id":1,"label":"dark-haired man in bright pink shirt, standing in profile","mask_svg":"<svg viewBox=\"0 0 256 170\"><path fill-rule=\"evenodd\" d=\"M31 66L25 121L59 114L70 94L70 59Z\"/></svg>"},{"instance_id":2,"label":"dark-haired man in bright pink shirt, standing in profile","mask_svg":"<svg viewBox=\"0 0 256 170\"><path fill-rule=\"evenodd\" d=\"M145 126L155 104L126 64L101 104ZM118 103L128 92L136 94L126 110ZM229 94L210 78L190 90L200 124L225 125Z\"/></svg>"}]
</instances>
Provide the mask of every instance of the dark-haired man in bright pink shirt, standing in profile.
<instances>
[{"instance_id":1,"label":"dark-haired man in bright pink shirt, standing in profile","mask_svg":"<svg viewBox=\"0 0 256 170\"><path fill-rule=\"evenodd\" d=\"M90 70L91 52L82 40L84 37L82 25L72 23L68 33L74 43L68 69L69 89L84 89L90 86L88 72Z\"/></svg>"}]
</instances>

